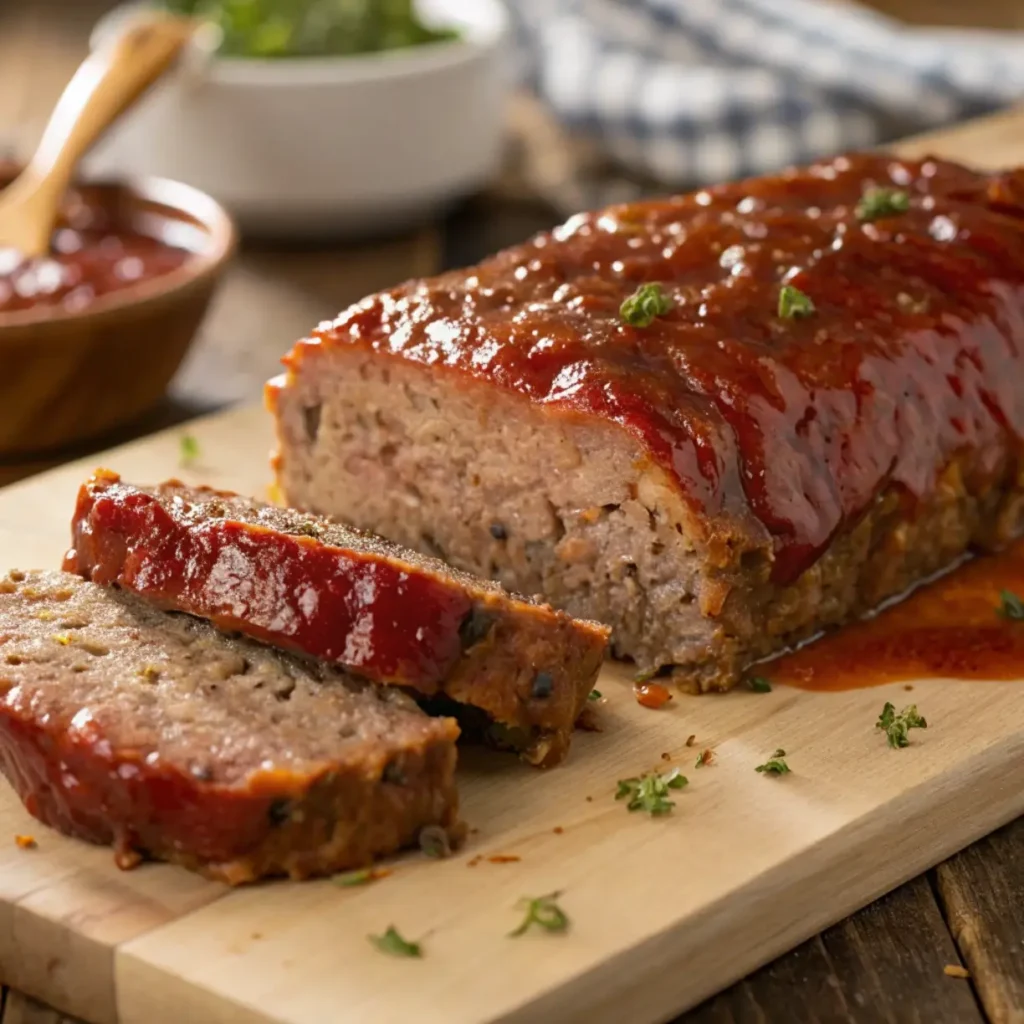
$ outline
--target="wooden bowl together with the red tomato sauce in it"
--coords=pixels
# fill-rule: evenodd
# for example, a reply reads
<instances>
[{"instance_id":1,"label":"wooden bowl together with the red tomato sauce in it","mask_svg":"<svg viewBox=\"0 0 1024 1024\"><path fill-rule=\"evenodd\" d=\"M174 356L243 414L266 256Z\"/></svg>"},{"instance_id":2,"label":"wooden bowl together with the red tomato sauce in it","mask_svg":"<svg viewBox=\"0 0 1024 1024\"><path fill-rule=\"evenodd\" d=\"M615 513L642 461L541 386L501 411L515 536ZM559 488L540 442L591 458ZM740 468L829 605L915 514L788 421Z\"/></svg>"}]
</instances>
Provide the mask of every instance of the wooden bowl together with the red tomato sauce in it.
<instances>
[{"instance_id":1,"label":"wooden bowl together with the red tomato sauce in it","mask_svg":"<svg viewBox=\"0 0 1024 1024\"><path fill-rule=\"evenodd\" d=\"M16 172L0 166L0 187ZM213 199L150 178L76 185L44 257L0 248L0 460L58 453L152 409L234 246Z\"/></svg>"}]
</instances>

